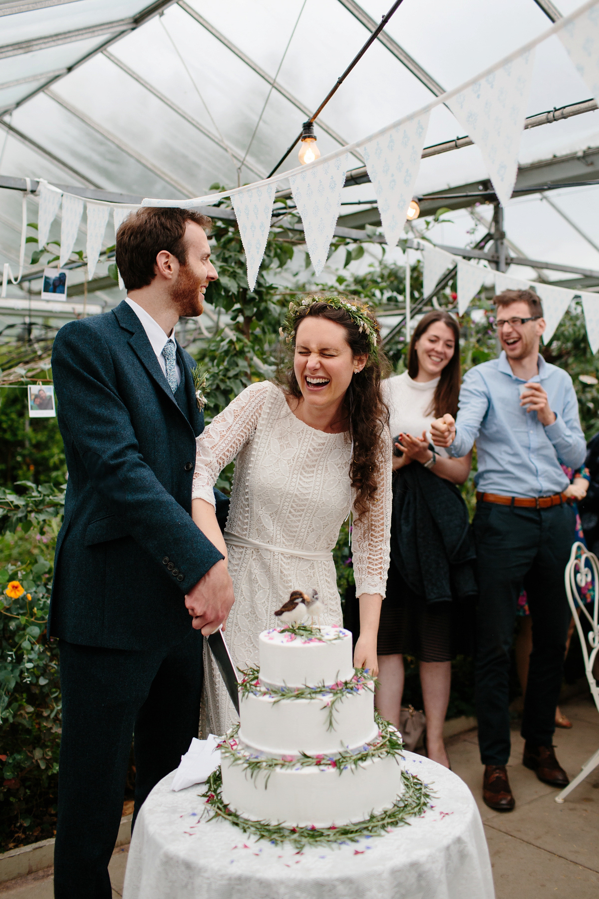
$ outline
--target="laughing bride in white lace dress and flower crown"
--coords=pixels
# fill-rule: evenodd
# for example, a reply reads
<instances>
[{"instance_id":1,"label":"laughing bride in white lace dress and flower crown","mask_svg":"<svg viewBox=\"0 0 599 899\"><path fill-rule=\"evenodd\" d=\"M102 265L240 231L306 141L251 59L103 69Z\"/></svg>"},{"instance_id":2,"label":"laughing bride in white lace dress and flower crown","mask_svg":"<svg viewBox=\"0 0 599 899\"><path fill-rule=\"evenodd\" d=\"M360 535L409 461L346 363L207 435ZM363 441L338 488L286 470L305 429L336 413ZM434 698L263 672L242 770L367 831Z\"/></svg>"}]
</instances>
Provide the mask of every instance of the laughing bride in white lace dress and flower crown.
<instances>
[{"instance_id":1,"label":"laughing bride in white lace dress and flower crown","mask_svg":"<svg viewBox=\"0 0 599 899\"><path fill-rule=\"evenodd\" d=\"M258 663L260 631L294 589L315 587L322 624L341 624L331 550L354 512L360 603L354 663L378 671L376 636L389 567L392 447L381 396L379 326L366 306L311 297L289 305L289 365L281 383L246 387L197 439L193 520L224 554L235 601L226 621L233 663ZM225 538L213 486L235 462ZM186 601L189 614L196 614ZM194 617L194 627L202 619ZM207 715L223 734L237 720L205 652Z\"/></svg>"}]
</instances>

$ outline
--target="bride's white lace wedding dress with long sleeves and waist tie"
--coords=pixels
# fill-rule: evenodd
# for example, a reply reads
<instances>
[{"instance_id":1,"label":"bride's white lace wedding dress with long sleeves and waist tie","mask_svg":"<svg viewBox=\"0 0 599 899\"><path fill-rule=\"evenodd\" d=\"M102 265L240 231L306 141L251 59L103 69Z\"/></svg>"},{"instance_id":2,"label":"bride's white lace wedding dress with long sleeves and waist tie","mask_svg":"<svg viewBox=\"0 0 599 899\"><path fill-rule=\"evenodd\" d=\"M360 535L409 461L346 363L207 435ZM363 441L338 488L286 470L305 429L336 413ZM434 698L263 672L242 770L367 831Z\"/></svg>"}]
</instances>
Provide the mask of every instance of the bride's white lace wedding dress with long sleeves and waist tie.
<instances>
[{"instance_id":1,"label":"bride's white lace wedding dress with long sleeves and waist tie","mask_svg":"<svg viewBox=\"0 0 599 899\"><path fill-rule=\"evenodd\" d=\"M356 520L352 553L357 595L384 596L391 528L391 435L384 429L382 483L370 511ZM258 663L260 631L292 590L315 587L322 624L341 624L331 550L348 517L353 492L347 433L304 424L269 381L246 387L198 437L192 497L214 504L212 487L236 458L225 540L235 601L225 639L240 668ZM205 706L213 734L236 720L225 684L205 649Z\"/></svg>"}]
</instances>

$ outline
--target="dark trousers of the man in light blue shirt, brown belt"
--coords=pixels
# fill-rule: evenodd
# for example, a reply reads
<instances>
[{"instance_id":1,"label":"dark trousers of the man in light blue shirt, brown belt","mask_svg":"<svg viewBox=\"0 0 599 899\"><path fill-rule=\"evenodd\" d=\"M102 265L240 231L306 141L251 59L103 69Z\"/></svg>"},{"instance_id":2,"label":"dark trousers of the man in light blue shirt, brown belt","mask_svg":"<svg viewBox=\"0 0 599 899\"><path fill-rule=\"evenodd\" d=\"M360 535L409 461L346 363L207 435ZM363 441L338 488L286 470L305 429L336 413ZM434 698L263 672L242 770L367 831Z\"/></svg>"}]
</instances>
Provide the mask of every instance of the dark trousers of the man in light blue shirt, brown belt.
<instances>
[{"instance_id":1,"label":"dark trousers of the man in light blue shirt, brown belt","mask_svg":"<svg viewBox=\"0 0 599 899\"><path fill-rule=\"evenodd\" d=\"M567 503L539 510L478 503L472 526L480 590L476 653L480 760L505 765L510 754L510 652L523 585L533 619L533 651L521 733L535 745L551 746L570 619L564 569L575 540L575 513Z\"/></svg>"}]
</instances>

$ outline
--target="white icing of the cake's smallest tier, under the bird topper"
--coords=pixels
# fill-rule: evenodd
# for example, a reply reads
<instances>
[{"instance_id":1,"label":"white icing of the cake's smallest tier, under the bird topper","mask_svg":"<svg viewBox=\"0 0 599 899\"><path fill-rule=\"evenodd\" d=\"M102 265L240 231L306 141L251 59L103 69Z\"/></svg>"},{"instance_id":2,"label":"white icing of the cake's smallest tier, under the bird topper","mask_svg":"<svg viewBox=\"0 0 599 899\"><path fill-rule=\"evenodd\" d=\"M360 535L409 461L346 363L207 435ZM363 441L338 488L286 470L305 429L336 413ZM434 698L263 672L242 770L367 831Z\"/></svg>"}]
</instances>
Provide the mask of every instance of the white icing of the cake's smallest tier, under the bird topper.
<instances>
[{"instance_id":1,"label":"white icing of the cake's smallest tier, under the bird topper","mask_svg":"<svg viewBox=\"0 0 599 899\"><path fill-rule=\"evenodd\" d=\"M293 634L281 634L277 629L262 631L260 681L277 686L315 687L321 683L330 686L353 677L349 631L343 628L321 628L321 631L324 640L306 640Z\"/></svg>"}]
</instances>

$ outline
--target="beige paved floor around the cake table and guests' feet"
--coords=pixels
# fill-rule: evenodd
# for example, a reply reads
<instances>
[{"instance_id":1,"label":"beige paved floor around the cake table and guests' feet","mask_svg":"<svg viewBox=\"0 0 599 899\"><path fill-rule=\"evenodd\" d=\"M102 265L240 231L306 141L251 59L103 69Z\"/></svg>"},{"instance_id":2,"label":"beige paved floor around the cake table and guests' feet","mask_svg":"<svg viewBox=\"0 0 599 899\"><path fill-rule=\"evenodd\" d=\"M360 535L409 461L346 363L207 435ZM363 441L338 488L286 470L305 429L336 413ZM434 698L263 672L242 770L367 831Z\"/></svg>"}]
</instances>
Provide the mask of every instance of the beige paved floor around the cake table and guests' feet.
<instances>
[{"instance_id":1,"label":"beige paved floor around the cake table and guests' feet","mask_svg":"<svg viewBox=\"0 0 599 899\"><path fill-rule=\"evenodd\" d=\"M562 711L572 730L559 730L556 753L570 778L599 747L599 716L591 699L573 699ZM515 722L509 779L515 810L492 812L480 797L482 766L476 731L452 737L447 748L452 767L471 788L485 825L497 899L596 899L599 895L599 768L566 802L557 790L523 767L524 741ZM110 862L113 899L122 895L128 847ZM0 886L0 899L52 899L52 869ZM166 899L166 897L165 897ZM472 896L471 899L477 899Z\"/></svg>"}]
</instances>

